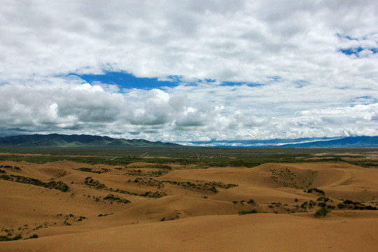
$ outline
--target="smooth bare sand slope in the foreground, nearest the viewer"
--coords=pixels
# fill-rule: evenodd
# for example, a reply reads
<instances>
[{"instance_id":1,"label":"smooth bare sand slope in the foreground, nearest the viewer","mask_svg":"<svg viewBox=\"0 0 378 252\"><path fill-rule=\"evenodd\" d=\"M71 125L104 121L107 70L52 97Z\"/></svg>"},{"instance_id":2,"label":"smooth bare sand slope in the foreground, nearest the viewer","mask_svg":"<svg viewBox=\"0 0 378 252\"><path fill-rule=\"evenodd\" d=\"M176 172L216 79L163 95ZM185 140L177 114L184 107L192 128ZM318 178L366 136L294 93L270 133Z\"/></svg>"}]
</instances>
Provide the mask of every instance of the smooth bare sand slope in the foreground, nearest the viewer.
<instances>
[{"instance_id":1,"label":"smooth bare sand slope in the foreground, nearest the viewer","mask_svg":"<svg viewBox=\"0 0 378 252\"><path fill-rule=\"evenodd\" d=\"M201 216L0 244L3 251L376 251L378 218Z\"/></svg>"}]
</instances>

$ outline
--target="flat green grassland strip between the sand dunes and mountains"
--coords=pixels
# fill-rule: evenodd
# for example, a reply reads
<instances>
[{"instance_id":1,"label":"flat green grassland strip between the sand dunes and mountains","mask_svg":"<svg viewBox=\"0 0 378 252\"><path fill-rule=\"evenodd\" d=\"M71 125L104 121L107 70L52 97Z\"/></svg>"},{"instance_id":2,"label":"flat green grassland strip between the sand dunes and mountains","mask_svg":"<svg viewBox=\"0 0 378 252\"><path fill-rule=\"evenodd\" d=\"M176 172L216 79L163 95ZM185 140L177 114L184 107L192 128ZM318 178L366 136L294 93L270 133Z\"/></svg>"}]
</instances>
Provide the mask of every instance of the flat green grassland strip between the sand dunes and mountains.
<instances>
[{"instance_id":1,"label":"flat green grassland strip between the sand dunes and mountains","mask_svg":"<svg viewBox=\"0 0 378 252\"><path fill-rule=\"evenodd\" d=\"M197 165L197 167L255 167L267 162L349 162L378 167L369 159L377 148L8 148L1 147L0 160L35 163L71 160L88 164L129 165L132 162ZM13 155L13 154L41 154ZM323 155L318 155L323 153ZM376 155L376 154L375 154ZM161 158L165 157L165 158ZM317 159L310 159L317 157ZM344 160L353 158L354 160ZM356 160L363 158L363 160Z\"/></svg>"}]
</instances>

